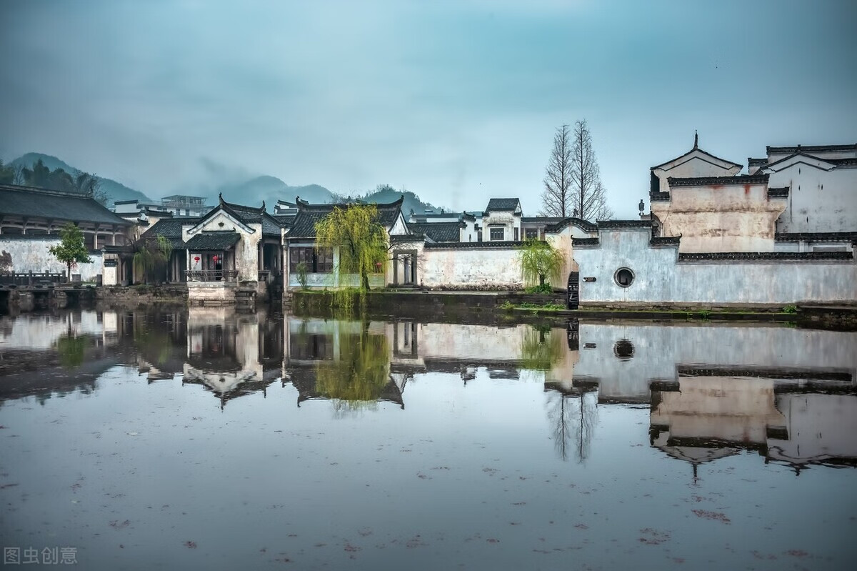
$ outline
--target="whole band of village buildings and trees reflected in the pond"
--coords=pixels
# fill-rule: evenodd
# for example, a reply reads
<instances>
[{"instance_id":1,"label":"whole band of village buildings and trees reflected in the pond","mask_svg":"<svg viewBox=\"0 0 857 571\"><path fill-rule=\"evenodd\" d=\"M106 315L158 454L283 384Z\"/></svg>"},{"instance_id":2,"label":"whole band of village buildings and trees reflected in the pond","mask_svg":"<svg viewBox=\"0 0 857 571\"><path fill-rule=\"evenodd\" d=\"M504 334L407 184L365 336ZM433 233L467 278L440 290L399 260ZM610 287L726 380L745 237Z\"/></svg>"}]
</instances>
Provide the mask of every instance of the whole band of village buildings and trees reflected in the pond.
<instances>
[{"instance_id":1,"label":"whole band of village buildings and trees reflected in the pond","mask_svg":"<svg viewBox=\"0 0 857 571\"><path fill-rule=\"evenodd\" d=\"M536 328L210 308L78 311L0 320L0 403L90 394L116 366L149 383L202 388L221 408L266 397L272 386L295 389L297 407L326 401L333 417L405 410L405 388L428 375L455 376L464 390L537 382L561 460L589 460L599 412L632 405L650 410L650 446L693 476L747 450L800 471L857 464L854 346L854 333L710 324Z\"/></svg>"}]
</instances>

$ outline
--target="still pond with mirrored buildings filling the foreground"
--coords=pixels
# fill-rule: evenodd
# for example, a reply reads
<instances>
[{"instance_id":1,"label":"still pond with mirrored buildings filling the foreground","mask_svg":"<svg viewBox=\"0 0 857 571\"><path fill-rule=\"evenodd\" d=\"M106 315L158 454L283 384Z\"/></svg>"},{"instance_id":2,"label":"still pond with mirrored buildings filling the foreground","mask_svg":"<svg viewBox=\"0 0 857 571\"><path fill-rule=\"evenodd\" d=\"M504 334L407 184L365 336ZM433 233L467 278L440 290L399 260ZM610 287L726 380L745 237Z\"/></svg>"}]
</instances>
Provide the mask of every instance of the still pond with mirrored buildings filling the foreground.
<instances>
[{"instance_id":1,"label":"still pond with mirrored buildings filling the foreground","mask_svg":"<svg viewBox=\"0 0 857 571\"><path fill-rule=\"evenodd\" d=\"M855 347L705 322L6 317L4 557L857 568Z\"/></svg>"}]
</instances>

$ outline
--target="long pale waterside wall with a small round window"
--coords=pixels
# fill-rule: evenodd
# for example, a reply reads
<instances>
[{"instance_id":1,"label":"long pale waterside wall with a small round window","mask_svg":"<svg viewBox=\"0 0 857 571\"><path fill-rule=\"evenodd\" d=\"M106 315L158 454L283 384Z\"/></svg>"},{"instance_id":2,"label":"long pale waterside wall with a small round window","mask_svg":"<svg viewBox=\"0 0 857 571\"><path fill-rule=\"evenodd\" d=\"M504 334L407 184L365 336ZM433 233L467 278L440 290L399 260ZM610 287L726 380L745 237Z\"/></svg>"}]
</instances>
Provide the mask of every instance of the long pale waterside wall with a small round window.
<instances>
[{"instance_id":1,"label":"long pale waterside wall with a small round window","mask_svg":"<svg viewBox=\"0 0 857 571\"><path fill-rule=\"evenodd\" d=\"M684 238L682 238L684 239ZM677 262L674 247L651 248L649 231L602 231L598 248L578 248L582 304L794 304L857 300L854 261ZM630 287L614 273L629 267ZM587 282L586 277L596 278Z\"/></svg>"}]
</instances>

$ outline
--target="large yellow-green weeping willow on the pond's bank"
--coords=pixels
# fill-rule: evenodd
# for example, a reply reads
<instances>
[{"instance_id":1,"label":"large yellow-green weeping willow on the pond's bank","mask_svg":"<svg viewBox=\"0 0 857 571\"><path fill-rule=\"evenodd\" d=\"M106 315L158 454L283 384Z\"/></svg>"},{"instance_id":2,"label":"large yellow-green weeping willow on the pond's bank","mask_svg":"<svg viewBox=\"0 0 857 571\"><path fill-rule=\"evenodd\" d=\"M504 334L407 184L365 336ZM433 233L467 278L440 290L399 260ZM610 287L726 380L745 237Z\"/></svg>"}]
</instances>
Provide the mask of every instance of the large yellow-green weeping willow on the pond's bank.
<instances>
[{"instance_id":1,"label":"large yellow-green weeping willow on the pond's bank","mask_svg":"<svg viewBox=\"0 0 857 571\"><path fill-rule=\"evenodd\" d=\"M339 249L339 274L357 273L360 292L369 291L369 273L387 263L387 231L374 204L348 204L315 223L318 248Z\"/></svg>"}]
</instances>

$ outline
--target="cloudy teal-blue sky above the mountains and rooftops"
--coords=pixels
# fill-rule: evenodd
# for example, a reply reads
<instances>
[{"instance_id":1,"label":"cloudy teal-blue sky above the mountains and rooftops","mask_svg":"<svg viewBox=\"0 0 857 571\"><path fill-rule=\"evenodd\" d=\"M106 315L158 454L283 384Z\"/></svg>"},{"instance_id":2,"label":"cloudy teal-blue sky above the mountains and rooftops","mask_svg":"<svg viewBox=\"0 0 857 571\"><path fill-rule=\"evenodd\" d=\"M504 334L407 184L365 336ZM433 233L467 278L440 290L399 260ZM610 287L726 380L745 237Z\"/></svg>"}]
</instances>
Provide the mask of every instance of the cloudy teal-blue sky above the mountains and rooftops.
<instances>
[{"instance_id":1,"label":"cloudy teal-blue sky above the mountains and rooftops","mask_svg":"<svg viewBox=\"0 0 857 571\"><path fill-rule=\"evenodd\" d=\"M4 0L0 158L152 197L267 174L541 207L585 119L618 218L699 147L857 142L857 3Z\"/></svg>"}]
</instances>

